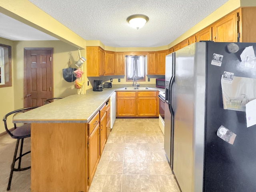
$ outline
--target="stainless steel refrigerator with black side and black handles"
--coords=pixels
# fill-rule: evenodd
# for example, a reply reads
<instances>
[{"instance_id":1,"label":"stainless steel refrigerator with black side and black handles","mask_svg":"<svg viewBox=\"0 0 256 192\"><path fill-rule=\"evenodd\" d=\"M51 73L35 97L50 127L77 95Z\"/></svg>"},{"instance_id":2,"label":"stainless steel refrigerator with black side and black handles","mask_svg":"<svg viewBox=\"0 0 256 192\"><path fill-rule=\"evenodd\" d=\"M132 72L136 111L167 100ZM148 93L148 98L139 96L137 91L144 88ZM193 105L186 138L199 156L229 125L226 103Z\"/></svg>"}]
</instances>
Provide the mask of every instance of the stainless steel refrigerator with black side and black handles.
<instances>
[{"instance_id":1,"label":"stainless steel refrigerator with black side and black handles","mask_svg":"<svg viewBox=\"0 0 256 192\"><path fill-rule=\"evenodd\" d=\"M256 191L256 126L247 128L246 112L224 109L221 85L224 72L256 78L255 50L197 42L166 56L164 149L182 192ZM236 134L233 144L218 137L220 126Z\"/></svg>"}]
</instances>

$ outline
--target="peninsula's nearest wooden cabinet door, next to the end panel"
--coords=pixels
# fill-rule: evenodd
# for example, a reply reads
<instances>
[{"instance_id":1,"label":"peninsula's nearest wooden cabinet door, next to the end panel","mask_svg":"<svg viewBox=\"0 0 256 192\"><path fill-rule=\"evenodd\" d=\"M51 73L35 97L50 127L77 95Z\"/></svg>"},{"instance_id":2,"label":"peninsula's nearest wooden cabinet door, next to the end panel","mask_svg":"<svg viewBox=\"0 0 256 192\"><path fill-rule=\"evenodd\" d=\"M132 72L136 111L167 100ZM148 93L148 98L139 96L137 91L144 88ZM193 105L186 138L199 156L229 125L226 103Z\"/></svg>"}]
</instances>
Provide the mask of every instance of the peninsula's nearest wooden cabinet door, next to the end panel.
<instances>
[{"instance_id":1,"label":"peninsula's nearest wooden cabinet door, next to the end panel","mask_svg":"<svg viewBox=\"0 0 256 192\"><path fill-rule=\"evenodd\" d=\"M99 146L99 124L94 128L92 134L88 137L88 183L92 182L98 162L100 159Z\"/></svg>"}]
</instances>

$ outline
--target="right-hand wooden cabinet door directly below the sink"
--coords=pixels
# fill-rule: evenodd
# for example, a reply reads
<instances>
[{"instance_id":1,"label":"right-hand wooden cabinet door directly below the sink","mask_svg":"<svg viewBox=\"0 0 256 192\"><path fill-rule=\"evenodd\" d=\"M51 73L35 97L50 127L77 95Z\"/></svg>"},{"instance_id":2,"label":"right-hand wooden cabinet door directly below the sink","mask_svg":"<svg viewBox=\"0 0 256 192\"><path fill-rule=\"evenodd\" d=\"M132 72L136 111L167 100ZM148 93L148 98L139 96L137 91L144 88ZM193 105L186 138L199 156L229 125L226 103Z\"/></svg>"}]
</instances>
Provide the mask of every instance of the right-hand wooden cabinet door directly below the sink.
<instances>
[{"instance_id":1,"label":"right-hand wooden cabinet door directly below the sink","mask_svg":"<svg viewBox=\"0 0 256 192\"><path fill-rule=\"evenodd\" d=\"M157 116L157 99L155 97L139 97L138 116Z\"/></svg>"}]
</instances>

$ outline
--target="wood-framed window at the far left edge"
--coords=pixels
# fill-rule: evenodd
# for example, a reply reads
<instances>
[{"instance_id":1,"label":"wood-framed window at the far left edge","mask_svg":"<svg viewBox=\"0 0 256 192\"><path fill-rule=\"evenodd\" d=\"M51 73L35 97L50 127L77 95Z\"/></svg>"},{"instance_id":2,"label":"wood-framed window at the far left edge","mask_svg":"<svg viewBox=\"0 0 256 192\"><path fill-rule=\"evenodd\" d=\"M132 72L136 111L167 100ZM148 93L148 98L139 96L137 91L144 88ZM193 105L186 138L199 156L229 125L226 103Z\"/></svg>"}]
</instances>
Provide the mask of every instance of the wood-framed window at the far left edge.
<instances>
[{"instance_id":1,"label":"wood-framed window at the far left edge","mask_svg":"<svg viewBox=\"0 0 256 192\"><path fill-rule=\"evenodd\" d=\"M0 44L0 87L12 86L12 48Z\"/></svg>"}]
</instances>

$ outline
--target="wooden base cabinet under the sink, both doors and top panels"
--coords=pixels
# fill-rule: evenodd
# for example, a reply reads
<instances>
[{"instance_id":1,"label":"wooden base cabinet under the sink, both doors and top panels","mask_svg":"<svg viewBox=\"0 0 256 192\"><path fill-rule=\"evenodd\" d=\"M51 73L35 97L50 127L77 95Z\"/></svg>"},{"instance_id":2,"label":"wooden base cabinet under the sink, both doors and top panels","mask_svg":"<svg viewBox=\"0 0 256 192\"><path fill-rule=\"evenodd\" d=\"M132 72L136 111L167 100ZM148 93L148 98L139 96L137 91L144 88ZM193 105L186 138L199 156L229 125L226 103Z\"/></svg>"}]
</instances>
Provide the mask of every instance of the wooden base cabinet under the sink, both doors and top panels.
<instances>
[{"instance_id":1,"label":"wooden base cabinet under the sink, both doors and top panels","mask_svg":"<svg viewBox=\"0 0 256 192\"><path fill-rule=\"evenodd\" d=\"M158 117L158 91L116 93L117 117Z\"/></svg>"}]
</instances>

